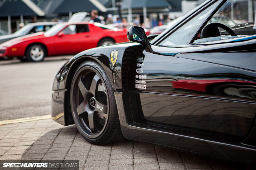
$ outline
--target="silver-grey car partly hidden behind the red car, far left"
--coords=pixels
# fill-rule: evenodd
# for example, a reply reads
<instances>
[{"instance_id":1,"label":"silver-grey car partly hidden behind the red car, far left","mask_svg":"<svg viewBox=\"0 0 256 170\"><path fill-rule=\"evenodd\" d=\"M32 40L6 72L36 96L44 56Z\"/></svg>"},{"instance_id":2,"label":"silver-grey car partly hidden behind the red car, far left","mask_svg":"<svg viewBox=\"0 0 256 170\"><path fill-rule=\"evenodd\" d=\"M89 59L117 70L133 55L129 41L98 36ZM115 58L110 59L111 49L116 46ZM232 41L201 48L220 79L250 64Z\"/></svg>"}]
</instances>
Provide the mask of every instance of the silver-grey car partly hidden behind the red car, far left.
<instances>
[{"instance_id":1,"label":"silver-grey car partly hidden behind the red car, far left","mask_svg":"<svg viewBox=\"0 0 256 170\"><path fill-rule=\"evenodd\" d=\"M2 44L3 42L9 41L11 39L23 36L23 35L28 35L28 34L32 34L32 33L41 32L41 31L47 31L55 24L57 24L57 23L56 22L41 22L41 23L26 24L26 26L22 27L15 33L0 36L0 44Z\"/></svg>"}]
</instances>

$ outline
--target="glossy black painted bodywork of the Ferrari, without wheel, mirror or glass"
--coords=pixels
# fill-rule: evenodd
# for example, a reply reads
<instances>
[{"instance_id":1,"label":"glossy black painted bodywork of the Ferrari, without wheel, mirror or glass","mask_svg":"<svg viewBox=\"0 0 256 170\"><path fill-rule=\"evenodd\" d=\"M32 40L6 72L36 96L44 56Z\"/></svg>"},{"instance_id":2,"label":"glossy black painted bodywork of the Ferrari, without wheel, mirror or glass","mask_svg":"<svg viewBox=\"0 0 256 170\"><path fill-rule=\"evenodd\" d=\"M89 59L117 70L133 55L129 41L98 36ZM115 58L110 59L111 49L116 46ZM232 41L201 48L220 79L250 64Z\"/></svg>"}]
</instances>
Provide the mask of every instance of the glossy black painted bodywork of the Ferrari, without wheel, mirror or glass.
<instances>
[{"instance_id":1,"label":"glossy black painted bodywork of the Ferrari, without wheel, mirror or glass","mask_svg":"<svg viewBox=\"0 0 256 170\"><path fill-rule=\"evenodd\" d=\"M138 43L123 43L74 56L55 77L52 116L63 113L55 121L73 123L73 74L80 63L96 60L115 89L126 138L255 165L256 40L158 46L176 26L151 41L151 52ZM118 51L114 66L113 50Z\"/></svg>"}]
</instances>

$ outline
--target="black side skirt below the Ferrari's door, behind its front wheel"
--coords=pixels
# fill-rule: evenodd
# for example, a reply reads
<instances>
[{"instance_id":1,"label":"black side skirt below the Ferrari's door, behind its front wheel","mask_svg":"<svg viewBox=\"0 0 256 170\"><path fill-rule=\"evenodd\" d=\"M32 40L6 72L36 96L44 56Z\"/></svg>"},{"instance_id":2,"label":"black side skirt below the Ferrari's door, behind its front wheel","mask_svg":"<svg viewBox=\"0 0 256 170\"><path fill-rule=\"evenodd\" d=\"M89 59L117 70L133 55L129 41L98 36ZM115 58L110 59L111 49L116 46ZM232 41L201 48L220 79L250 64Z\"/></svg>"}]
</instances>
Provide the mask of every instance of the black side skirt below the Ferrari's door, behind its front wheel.
<instances>
[{"instance_id":1,"label":"black side skirt below the Ferrari's door, behind its front wheel","mask_svg":"<svg viewBox=\"0 0 256 170\"><path fill-rule=\"evenodd\" d=\"M120 125L125 138L159 144L183 152L195 153L211 158L224 159L244 165L253 165L256 162L256 149L245 147L241 143L200 136L198 134L180 132L174 129L129 122L129 107L125 92L114 92ZM226 154L228 153L228 154Z\"/></svg>"}]
</instances>

